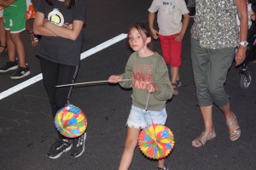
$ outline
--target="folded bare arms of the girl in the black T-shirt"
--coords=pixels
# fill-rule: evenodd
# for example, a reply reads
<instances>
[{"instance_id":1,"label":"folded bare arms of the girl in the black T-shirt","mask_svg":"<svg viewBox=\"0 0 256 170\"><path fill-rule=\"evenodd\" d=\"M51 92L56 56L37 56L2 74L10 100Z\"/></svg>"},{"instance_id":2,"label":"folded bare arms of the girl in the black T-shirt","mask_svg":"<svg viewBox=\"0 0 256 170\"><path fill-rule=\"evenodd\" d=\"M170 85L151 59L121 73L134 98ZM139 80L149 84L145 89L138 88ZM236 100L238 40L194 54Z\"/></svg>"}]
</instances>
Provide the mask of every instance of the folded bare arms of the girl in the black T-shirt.
<instances>
[{"instance_id":1,"label":"folded bare arms of the girl in the black T-shirt","mask_svg":"<svg viewBox=\"0 0 256 170\"><path fill-rule=\"evenodd\" d=\"M38 15L38 20L37 20ZM65 27L56 26L49 22L49 20L44 20L44 14L37 13L34 20L34 32L35 34L42 36L60 36L71 40L76 40L79 37L79 33L83 28L84 22L82 20L73 20L72 29L67 29Z\"/></svg>"}]
</instances>

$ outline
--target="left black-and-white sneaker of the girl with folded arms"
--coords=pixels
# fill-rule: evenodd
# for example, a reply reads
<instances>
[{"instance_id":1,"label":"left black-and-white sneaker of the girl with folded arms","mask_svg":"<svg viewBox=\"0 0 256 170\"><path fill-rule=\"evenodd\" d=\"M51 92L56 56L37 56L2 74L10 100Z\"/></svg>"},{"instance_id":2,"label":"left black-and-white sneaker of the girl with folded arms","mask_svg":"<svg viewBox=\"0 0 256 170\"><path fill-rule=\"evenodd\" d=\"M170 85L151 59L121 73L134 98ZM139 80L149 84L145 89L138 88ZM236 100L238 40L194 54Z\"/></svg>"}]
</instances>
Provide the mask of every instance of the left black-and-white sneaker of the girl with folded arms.
<instances>
[{"instance_id":1,"label":"left black-and-white sneaker of the girl with folded arms","mask_svg":"<svg viewBox=\"0 0 256 170\"><path fill-rule=\"evenodd\" d=\"M68 142L58 139L49 149L49 152L47 153L47 156L51 159L56 159L61 156L64 152L67 152L67 150L70 150L72 147L71 140L68 140Z\"/></svg>"}]
</instances>

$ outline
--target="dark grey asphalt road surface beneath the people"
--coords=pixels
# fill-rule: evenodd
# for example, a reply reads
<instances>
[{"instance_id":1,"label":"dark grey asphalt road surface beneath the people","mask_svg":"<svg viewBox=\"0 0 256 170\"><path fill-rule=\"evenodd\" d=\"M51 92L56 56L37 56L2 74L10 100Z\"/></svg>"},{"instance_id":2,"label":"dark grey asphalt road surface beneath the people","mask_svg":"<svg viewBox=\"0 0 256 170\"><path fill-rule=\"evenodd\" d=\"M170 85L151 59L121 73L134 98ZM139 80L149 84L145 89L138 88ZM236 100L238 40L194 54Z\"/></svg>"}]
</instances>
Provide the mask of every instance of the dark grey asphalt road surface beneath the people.
<instances>
[{"instance_id":1,"label":"dark grey asphalt road surface beneath the people","mask_svg":"<svg viewBox=\"0 0 256 170\"><path fill-rule=\"evenodd\" d=\"M33 0L35 6L38 0ZM84 30L83 52L126 33L136 21L148 21L151 1L137 0L88 0L87 24ZM252 84L247 89L239 86L240 67L232 65L225 89L230 94L230 105L241 126L241 138L231 142L222 112L213 107L213 122L217 138L201 148L191 141L203 130L201 113L196 101L193 82L189 29L183 39L183 65L180 68L182 86L179 94L166 104L166 126L175 136L175 147L166 164L170 169L255 169L256 116L256 64L248 65ZM39 60L35 58L26 31L21 34L26 47L26 57L31 75L22 80L11 80L12 72L0 74L0 92L3 92L40 73ZM154 41L154 51L160 52L160 42ZM131 50L125 40L117 42L81 61L76 82L108 80L112 74L125 69ZM8 60L5 53L0 65ZM88 119L85 152L72 158L70 152L56 160L46 156L57 135L49 109L49 101L42 81L0 100L0 169L3 170L54 170L54 169L118 169L125 142L125 123L131 109L131 90L119 85L99 84L77 86L73 89L71 103L79 106ZM130 169L149 170L156 167L137 148Z\"/></svg>"}]
</instances>

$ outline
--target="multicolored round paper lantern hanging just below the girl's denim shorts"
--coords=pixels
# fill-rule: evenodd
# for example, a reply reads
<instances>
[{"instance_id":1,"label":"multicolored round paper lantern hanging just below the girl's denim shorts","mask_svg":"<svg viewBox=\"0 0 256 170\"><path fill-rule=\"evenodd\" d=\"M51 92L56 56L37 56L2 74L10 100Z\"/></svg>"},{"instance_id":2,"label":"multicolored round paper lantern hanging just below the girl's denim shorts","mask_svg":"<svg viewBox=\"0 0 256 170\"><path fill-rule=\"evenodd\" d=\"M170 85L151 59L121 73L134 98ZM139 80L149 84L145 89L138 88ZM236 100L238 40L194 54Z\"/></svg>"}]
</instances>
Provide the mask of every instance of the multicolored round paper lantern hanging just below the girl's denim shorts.
<instances>
[{"instance_id":1,"label":"multicolored round paper lantern hanging just below the girl's denim shorts","mask_svg":"<svg viewBox=\"0 0 256 170\"><path fill-rule=\"evenodd\" d=\"M141 131L138 146L145 156L161 159L171 153L174 146L174 136L170 128L153 124Z\"/></svg>"}]
</instances>

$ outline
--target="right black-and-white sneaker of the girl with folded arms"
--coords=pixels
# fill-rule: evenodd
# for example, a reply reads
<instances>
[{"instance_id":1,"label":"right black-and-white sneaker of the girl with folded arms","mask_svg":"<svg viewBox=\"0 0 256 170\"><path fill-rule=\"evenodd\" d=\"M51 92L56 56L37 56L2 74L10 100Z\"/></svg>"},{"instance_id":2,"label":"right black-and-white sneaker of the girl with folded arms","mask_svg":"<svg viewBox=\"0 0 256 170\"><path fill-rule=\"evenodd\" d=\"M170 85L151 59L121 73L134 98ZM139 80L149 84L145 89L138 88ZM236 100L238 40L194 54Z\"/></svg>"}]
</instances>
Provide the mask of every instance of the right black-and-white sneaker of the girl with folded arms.
<instances>
[{"instance_id":1,"label":"right black-and-white sneaker of the girl with folded arms","mask_svg":"<svg viewBox=\"0 0 256 170\"><path fill-rule=\"evenodd\" d=\"M71 156L72 157L79 157L82 156L84 153L84 143L86 139L86 133L81 135L79 138L73 139L73 146L71 149Z\"/></svg>"}]
</instances>

